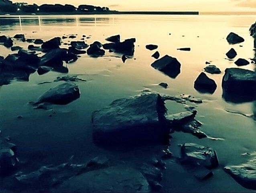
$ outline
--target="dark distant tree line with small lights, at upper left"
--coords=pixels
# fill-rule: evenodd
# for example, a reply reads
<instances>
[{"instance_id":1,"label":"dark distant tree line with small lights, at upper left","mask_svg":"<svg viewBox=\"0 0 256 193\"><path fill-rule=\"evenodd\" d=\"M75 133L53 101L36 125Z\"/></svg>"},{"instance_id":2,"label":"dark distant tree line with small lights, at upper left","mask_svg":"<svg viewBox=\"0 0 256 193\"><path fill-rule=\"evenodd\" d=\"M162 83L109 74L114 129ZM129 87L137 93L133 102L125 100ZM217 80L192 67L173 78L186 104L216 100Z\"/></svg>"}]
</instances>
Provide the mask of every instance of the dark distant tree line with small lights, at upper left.
<instances>
[{"instance_id":1,"label":"dark distant tree line with small lights, at upper left","mask_svg":"<svg viewBox=\"0 0 256 193\"><path fill-rule=\"evenodd\" d=\"M109 11L108 7L92 5L73 5L65 4L37 4L29 5L27 3L13 3L10 0L0 0L0 13L65 13L65 12L104 12Z\"/></svg>"}]
</instances>

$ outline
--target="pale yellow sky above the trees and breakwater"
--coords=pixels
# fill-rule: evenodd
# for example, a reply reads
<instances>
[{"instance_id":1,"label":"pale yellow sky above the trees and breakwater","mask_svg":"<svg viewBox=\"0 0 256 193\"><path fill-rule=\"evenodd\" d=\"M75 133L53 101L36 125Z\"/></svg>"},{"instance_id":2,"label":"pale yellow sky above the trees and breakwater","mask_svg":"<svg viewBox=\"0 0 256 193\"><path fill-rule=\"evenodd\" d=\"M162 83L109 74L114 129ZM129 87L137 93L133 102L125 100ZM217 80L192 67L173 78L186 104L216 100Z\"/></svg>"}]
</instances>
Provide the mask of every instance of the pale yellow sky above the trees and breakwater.
<instances>
[{"instance_id":1,"label":"pale yellow sky above the trees and breakwater","mask_svg":"<svg viewBox=\"0 0 256 193\"><path fill-rule=\"evenodd\" d=\"M53 0L12 0L13 2L53 4ZM256 0L54 0L59 4L91 4L111 10L195 10L200 12L256 11Z\"/></svg>"}]
</instances>

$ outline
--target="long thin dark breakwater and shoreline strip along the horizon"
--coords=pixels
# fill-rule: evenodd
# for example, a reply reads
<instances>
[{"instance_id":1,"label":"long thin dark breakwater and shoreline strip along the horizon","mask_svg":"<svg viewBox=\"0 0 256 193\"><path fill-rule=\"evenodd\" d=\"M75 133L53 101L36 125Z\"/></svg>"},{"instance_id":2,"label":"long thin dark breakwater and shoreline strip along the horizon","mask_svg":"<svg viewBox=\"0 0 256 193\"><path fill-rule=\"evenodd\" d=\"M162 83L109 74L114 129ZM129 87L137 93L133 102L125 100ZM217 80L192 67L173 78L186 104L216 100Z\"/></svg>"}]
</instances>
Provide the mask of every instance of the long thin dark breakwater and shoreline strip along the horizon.
<instances>
[{"instance_id":1,"label":"long thin dark breakwater and shoreline strip along the horizon","mask_svg":"<svg viewBox=\"0 0 256 193\"><path fill-rule=\"evenodd\" d=\"M45 16L45 15L125 15L125 14L138 14L138 15L199 15L198 11L104 11L104 12L49 12L49 13L12 13L12 14L0 14L2 17L16 17L16 16Z\"/></svg>"}]
</instances>

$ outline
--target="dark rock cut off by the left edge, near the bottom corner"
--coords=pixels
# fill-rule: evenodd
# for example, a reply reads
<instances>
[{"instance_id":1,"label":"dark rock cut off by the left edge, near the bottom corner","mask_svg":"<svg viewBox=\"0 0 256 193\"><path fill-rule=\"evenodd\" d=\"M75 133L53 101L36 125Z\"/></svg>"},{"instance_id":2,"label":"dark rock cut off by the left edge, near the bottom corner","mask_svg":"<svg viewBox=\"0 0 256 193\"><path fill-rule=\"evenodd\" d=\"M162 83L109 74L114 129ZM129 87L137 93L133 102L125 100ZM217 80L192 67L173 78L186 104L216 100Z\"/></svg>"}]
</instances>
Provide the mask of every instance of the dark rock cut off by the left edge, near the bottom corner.
<instances>
[{"instance_id":1,"label":"dark rock cut off by the left edge, near the bottom corner","mask_svg":"<svg viewBox=\"0 0 256 193\"><path fill-rule=\"evenodd\" d=\"M0 175L9 175L14 171L18 165L18 158L16 157L17 147L4 139L0 139Z\"/></svg>"}]
</instances>

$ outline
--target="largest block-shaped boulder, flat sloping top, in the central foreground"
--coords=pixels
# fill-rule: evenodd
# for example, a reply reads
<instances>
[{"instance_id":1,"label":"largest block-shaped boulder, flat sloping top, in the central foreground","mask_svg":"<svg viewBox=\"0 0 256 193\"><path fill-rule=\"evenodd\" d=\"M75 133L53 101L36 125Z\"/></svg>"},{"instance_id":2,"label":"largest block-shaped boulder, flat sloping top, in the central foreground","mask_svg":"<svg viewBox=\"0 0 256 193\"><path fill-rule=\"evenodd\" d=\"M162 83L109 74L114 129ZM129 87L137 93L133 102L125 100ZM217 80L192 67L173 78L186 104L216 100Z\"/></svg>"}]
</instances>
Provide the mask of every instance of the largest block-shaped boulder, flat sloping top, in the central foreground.
<instances>
[{"instance_id":1,"label":"largest block-shaped boulder, flat sloping top, in the central foreground","mask_svg":"<svg viewBox=\"0 0 256 193\"><path fill-rule=\"evenodd\" d=\"M158 93L121 98L92 114L93 138L98 144L134 145L161 142L168 136L166 108Z\"/></svg>"}]
</instances>

